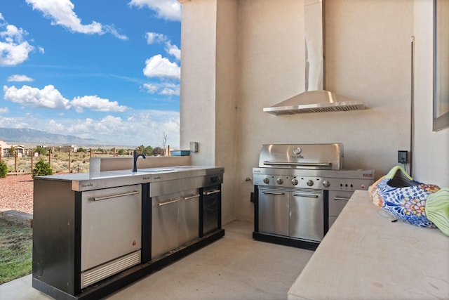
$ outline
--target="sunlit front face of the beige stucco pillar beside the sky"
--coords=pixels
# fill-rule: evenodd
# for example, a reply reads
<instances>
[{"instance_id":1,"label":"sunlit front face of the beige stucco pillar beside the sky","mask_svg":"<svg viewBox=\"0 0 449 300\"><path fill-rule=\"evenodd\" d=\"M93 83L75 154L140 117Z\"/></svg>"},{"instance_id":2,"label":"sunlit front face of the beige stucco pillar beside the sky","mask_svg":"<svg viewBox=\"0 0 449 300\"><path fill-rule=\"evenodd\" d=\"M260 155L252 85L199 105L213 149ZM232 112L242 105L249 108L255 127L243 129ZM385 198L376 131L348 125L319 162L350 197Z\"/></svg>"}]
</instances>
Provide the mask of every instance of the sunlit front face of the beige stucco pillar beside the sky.
<instances>
[{"instance_id":1,"label":"sunlit front face of the beige stucco pillar beside the sky","mask_svg":"<svg viewBox=\"0 0 449 300\"><path fill-rule=\"evenodd\" d=\"M216 1L182 4L180 148L199 143L192 164L215 165Z\"/></svg>"}]
</instances>

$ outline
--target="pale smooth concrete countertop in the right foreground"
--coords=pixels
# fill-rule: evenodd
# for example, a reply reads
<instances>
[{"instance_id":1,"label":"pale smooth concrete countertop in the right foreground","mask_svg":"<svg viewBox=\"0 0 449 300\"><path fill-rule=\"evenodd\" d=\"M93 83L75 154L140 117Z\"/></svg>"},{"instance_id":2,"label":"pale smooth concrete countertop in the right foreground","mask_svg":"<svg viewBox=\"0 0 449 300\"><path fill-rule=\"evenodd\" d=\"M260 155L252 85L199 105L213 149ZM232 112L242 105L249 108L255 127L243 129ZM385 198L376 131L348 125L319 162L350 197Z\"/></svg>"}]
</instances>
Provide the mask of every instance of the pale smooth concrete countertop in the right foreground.
<instances>
[{"instance_id":1,"label":"pale smooth concrete countertop in the right foreground","mask_svg":"<svg viewBox=\"0 0 449 300\"><path fill-rule=\"evenodd\" d=\"M449 299L449 237L391 221L356 190L288 299Z\"/></svg>"}]
</instances>

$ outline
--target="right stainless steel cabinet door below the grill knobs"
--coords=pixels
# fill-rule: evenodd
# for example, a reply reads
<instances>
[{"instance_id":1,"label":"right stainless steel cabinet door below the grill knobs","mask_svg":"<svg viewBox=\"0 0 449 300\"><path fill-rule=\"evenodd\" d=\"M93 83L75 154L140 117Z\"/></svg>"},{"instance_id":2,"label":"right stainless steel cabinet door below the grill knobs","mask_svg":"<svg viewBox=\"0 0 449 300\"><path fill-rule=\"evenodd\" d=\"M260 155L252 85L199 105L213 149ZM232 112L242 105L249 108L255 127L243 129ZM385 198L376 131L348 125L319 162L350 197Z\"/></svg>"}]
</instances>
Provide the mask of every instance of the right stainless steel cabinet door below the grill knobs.
<instances>
[{"instance_id":1,"label":"right stainless steel cabinet door below the grill knobs","mask_svg":"<svg viewBox=\"0 0 449 300\"><path fill-rule=\"evenodd\" d=\"M290 237L321 241L324 237L323 191L294 191L290 197Z\"/></svg>"}]
</instances>

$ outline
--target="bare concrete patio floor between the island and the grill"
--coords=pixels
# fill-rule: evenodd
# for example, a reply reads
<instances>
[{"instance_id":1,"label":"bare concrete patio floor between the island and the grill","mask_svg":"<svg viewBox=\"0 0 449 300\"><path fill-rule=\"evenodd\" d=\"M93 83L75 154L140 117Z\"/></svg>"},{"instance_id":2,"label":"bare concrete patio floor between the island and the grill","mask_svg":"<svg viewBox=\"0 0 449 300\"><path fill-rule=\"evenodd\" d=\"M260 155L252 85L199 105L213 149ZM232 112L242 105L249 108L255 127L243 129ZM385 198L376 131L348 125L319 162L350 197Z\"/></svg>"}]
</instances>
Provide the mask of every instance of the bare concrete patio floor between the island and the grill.
<instances>
[{"instance_id":1,"label":"bare concrete patio floor between the island and the grill","mask_svg":"<svg viewBox=\"0 0 449 300\"><path fill-rule=\"evenodd\" d=\"M313 252L252 239L253 224L233 221L225 237L110 294L107 299L287 299ZM31 275L0 285L0 299L51 299Z\"/></svg>"}]
</instances>

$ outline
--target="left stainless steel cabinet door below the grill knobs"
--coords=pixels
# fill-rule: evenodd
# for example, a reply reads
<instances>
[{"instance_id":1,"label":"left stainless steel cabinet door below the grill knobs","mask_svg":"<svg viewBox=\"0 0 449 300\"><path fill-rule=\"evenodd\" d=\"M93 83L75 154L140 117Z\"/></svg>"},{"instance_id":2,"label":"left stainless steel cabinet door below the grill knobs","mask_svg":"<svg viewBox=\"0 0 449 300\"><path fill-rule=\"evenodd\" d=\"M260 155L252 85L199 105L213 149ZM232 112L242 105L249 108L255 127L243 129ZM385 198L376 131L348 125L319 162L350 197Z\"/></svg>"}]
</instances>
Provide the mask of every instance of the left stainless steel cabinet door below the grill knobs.
<instances>
[{"instance_id":1,"label":"left stainless steel cabinet door below the grill knobs","mask_svg":"<svg viewBox=\"0 0 449 300\"><path fill-rule=\"evenodd\" d=\"M288 235L288 193L274 188L259 189L259 231Z\"/></svg>"}]
</instances>

